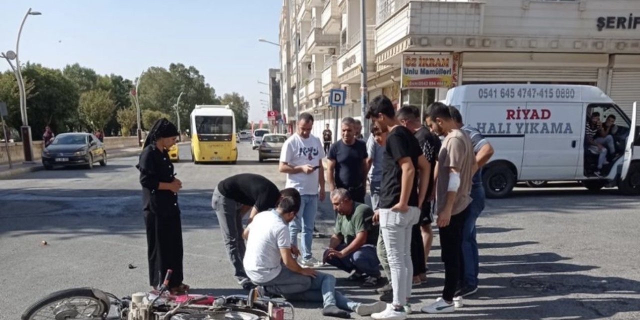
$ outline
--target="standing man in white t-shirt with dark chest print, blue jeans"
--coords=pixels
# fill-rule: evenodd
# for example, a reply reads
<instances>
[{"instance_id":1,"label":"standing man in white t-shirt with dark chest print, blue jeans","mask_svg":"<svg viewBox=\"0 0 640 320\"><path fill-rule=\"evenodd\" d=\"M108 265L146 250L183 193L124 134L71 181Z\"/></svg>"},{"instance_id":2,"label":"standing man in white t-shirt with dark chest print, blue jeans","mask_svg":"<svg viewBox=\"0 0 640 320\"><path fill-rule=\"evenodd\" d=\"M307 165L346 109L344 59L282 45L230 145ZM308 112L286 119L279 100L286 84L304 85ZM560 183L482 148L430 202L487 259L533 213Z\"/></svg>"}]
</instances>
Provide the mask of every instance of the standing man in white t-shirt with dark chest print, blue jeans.
<instances>
[{"instance_id":1,"label":"standing man in white t-shirt with dark chest print, blue jeans","mask_svg":"<svg viewBox=\"0 0 640 320\"><path fill-rule=\"evenodd\" d=\"M318 209L318 200L324 201L324 157L323 144L311 134L314 116L301 113L298 117L298 132L293 134L282 146L280 152L280 172L287 173L286 188L295 188L300 192L300 214L289 223L291 244L296 246L298 234L302 232L300 263L303 266L318 266L320 262L313 257L314 224Z\"/></svg>"}]
</instances>

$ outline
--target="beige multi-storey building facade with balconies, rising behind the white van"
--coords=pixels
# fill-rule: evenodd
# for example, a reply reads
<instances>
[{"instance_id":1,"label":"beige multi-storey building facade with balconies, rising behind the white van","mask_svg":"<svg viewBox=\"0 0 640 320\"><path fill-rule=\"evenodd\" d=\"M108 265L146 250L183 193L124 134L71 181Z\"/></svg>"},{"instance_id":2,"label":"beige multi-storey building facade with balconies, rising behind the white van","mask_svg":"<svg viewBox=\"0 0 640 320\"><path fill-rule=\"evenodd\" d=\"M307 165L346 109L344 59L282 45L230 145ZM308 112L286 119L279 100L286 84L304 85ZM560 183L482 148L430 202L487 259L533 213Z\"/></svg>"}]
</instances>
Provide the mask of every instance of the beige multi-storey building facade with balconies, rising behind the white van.
<instances>
[{"instance_id":1,"label":"beige multi-storey building facade with balconies, rising behind the white van","mask_svg":"<svg viewBox=\"0 0 640 320\"><path fill-rule=\"evenodd\" d=\"M316 115L318 131L360 118L361 0L285 2L291 28L281 23L281 43L297 46L286 54L292 105ZM367 0L365 17L369 99L426 108L460 84L589 84L630 115L640 92L640 1ZM411 81L403 66L412 63L441 81ZM337 117L331 88L347 90Z\"/></svg>"}]
</instances>

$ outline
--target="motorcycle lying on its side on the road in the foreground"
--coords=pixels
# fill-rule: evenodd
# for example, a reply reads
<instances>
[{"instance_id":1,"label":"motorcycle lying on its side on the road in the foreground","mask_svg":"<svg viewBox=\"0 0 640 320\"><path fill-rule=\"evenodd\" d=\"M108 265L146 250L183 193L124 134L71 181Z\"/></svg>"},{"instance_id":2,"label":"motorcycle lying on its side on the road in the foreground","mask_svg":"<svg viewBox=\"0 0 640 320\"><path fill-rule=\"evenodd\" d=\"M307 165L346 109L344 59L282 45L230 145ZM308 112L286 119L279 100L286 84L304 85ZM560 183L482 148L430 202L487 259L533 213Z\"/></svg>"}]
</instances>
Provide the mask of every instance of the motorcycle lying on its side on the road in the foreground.
<instances>
[{"instance_id":1,"label":"motorcycle lying on its side on the road in the foreground","mask_svg":"<svg viewBox=\"0 0 640 320\"><path fill-rule=\"evenodd\" d=\"M54 292L31 305L22 320L285 320L294 319L291 303L248 295L173 295L168 292L168 270L158 290L118 299L94 288ZM115 310L111 310L115 305Z\"/></svg>"}]
</instances>

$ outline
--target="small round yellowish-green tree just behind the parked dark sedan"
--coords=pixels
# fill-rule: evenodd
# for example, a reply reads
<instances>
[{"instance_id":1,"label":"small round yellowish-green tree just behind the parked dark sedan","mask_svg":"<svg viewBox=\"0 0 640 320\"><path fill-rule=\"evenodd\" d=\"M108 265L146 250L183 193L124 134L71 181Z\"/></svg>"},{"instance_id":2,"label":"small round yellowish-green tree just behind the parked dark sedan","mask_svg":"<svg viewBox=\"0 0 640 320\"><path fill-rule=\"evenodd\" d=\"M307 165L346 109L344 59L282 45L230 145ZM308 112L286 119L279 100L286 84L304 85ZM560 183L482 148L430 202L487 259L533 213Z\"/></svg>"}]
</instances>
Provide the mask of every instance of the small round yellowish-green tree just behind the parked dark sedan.
<instances>
[{"instance_id":1,"label":"small round yellowish-green tree just behind the parked dark sedan","mask_svg":"<svg viewBox=\"0 0 640 320\"><path fill-rule=\"evenodd\" d=\"M115 109L116 104L108 91L97 89L80 95L78 113L94 131L104 131Z\"/></svg>"}]
</instances>

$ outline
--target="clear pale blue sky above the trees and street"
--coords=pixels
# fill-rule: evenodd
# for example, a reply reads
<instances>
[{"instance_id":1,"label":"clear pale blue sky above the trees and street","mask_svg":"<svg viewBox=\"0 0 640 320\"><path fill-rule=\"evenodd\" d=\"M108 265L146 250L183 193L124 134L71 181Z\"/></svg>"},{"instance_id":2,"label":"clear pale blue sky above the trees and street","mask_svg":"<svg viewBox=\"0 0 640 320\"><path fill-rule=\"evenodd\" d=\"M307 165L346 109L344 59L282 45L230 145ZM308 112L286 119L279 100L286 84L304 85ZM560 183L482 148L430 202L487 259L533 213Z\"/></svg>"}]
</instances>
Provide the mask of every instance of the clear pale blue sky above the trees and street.
<instances>
[{"instance_id":1,"label":"clear pale blue sky above the trees and street","mask_svg":"<svg viewBox=\"0 0 640 320\"><path fill-rule=\"evenodd\" d=\"M265 119L268 69L279 68L280 0L0 0L0 52L15 51L22 17L20 60L63 68L80 63L99 74L134 79L150 66L193 65L221 95L250 102L249 119ZM0 60L0 70L9 66ZM140 92L141 95L144 92Z\"/></svg>"}]
</instances>

